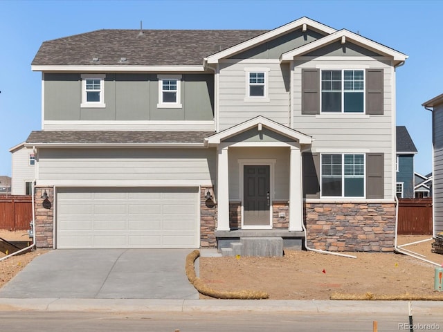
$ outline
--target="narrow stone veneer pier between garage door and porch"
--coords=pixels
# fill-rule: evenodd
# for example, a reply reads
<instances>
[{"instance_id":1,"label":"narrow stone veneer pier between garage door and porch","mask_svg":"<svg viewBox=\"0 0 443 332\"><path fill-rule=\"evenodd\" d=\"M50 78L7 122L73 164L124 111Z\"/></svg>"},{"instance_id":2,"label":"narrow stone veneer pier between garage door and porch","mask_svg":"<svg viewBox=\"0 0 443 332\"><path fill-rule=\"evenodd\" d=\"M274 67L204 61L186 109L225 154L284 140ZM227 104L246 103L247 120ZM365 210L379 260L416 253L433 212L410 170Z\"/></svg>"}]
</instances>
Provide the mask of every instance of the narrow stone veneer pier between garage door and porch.
<instances>
[{"instance_id":1,"label":"narrow stone veneer pier between garage door and porch","mask_svg":"<svg viewBox=\"0 0 443 332\"><path fill-rule=\"evenodd\" d=\"M217 247L215 229L217 228L217 205L210 206L206 203L205 195L208 189L213 192L213 187L201 187L200 190L200 246L201 248Z\"/></svg>"}]
</instances>

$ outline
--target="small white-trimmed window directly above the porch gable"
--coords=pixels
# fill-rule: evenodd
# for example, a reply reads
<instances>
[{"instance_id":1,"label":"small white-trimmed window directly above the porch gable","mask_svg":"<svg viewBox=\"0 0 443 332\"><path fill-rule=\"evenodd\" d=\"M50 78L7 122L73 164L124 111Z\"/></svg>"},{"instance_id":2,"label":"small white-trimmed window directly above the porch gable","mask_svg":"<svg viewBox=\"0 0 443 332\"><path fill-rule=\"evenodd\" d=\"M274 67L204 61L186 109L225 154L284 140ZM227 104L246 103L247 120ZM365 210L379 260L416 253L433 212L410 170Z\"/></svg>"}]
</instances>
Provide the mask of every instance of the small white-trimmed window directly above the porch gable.
<instances>
[{"instance_id":1,"label":"small white-trimmed window directly above the porch gable","mask_svg":"<svg viewBox=\"0 0 443 332\"><path fill-rule=\"evenodd\" d=\"M269 68L244 68L246 102L269 102Z\"/></svg>"}]
</instances>

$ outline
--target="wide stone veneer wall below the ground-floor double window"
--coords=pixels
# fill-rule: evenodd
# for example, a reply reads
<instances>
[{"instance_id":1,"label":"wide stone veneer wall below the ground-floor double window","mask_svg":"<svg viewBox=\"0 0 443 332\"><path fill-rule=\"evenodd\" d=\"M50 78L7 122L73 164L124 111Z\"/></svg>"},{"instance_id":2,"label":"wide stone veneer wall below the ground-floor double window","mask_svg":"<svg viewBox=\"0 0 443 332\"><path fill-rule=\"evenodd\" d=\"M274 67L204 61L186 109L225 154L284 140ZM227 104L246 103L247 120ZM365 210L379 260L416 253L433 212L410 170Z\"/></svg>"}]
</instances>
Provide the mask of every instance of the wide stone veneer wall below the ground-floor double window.
<instances>
[{"instance_id":1,"label":"wide stone veneer wall below the ground-floor double window","mask_svg":"<svg viewBox=\"0 0 443 332\"><path fill-rule=\"evenodd\" d=\"M394 203L306 203L305 209L310 248L354 252L394 250Z\"/></svg>"}]
</instances>

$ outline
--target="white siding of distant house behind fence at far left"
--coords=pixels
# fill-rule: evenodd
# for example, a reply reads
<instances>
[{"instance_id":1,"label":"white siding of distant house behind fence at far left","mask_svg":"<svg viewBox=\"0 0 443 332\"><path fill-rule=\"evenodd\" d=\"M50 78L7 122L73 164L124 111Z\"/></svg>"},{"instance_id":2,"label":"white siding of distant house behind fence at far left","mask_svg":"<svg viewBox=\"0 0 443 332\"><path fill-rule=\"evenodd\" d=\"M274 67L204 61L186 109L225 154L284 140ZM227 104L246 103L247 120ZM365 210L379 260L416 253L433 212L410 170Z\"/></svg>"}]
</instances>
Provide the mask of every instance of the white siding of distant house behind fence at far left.
<instances>
[{"instance_id":1,"label":"white siding of distant house behind fence at far left","mask_svg":"<svg viewBox=\"0 0 443 332\"><path fill-rule=\"evenodd\" d=\"M35 178L35 166L29 165L30 154L33 154L33 149L26 147L12 152L12 195L26 194L26 181L33 181Z\"/></svg>"}]
</instances>

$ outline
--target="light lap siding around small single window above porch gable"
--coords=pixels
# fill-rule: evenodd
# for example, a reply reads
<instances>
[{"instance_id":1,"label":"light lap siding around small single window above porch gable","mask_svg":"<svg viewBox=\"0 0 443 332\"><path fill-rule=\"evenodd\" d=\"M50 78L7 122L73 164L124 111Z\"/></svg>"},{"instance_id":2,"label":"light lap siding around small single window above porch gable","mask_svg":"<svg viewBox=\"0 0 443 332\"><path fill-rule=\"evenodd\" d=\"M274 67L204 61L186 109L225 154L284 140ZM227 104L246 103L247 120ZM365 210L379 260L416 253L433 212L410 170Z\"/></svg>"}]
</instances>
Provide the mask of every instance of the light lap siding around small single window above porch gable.
<instances>
[{"instance_id":1,"label":"light lap siding around small single window above porch gable","mask_svg":"<svg viewBox=\"0 0 443 332\"><path fill-rule=\"evenodd\" d=\"M269 70L265 71L265 75L268 75L267 101L266 98L246 98L248 71L257 68ZM220 64L219 130L228 129L257 116L289 126L289 85L289 65L280 65L278 61L257 64L231 60Z\"/></svg>"}]
</instances>

